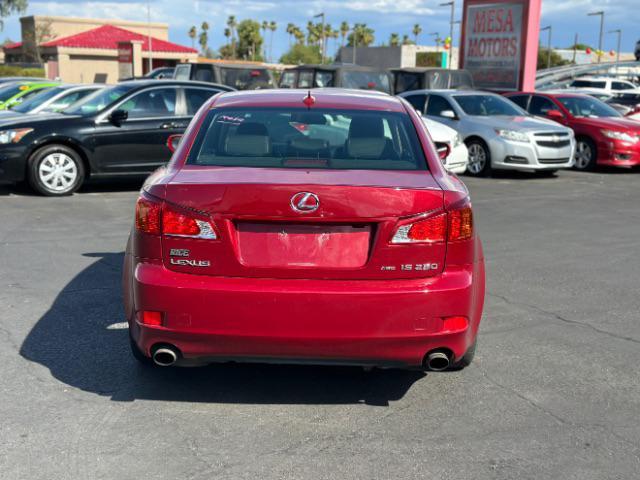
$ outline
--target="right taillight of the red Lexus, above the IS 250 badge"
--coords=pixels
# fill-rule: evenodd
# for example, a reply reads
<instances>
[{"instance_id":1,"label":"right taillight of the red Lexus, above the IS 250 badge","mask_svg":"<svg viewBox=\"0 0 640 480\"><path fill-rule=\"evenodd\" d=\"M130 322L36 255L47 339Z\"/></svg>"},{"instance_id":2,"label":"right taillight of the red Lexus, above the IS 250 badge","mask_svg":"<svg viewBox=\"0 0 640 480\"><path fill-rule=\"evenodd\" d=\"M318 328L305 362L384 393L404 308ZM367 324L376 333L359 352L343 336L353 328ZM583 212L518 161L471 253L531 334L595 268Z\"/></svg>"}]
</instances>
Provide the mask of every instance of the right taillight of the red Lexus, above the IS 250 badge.
<instances>
[{"instance_id":1,"label":"right taillight of the red Lexus, above the IS 250 badge","mask_svg":"<svg viewBox=\"0 0 640 480\"><path fill-rule=\"evenodd\" d=\"M472 236L473 213L471 207L464 207L402 225L391 243L459 242L469 240Z\"/></svg>"}]
</instances>

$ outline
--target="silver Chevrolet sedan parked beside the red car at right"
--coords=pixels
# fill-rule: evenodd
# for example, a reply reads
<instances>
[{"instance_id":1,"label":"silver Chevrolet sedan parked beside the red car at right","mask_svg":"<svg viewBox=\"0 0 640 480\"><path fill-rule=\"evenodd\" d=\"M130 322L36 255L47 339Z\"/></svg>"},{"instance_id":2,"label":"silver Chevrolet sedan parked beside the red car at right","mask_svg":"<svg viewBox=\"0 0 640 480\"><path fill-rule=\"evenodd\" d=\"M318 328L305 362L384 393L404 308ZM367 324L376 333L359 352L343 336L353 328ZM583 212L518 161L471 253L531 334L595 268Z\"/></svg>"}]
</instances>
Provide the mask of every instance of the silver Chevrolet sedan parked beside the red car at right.
<instances>
[{"instance_id":1,"label":"silver Chevrolet sedan parked beside the red car at right","mask_svg":"<svg viewBox=\"0 0 640 480\"><path fill-rule=\"evenodd\" d=\"M487 92L415 90L400 94L425 117L457 130L469 150L467 172L492 169L552 174L573 166L575 138L570 128L532 117L506 98Z\"/></svg>"}]
</instances>

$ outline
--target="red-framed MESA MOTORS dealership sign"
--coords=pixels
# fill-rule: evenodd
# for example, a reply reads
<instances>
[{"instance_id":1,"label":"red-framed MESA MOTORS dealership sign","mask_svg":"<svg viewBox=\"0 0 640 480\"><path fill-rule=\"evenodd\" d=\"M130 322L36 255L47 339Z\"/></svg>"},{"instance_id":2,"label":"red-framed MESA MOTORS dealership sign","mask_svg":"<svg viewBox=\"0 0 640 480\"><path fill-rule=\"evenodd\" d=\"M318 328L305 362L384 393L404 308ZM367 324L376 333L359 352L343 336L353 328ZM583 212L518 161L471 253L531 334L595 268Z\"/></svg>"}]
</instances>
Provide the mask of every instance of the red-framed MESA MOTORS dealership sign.
<instances>
[{"instance_id":1,"label":"red-framed MESA MOTORS dealership sign","mask_svg":"<svg viewBox=\"0 0 640 480\"><path fill-rule=\"evenodd\" d=\"M542 0L465 0L461 68L477 87L534 90Z\"/></svg>"}]
</instances>

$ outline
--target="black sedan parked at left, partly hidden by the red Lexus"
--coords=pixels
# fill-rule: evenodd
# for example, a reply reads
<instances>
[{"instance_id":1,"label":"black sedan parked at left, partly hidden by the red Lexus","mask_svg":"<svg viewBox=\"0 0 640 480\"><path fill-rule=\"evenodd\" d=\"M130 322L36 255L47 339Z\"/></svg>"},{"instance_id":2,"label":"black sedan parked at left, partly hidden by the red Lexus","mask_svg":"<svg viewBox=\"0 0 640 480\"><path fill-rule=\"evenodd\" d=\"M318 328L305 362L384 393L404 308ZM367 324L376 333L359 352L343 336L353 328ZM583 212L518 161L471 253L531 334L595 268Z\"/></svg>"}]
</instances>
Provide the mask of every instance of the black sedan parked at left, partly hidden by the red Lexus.
<instances>
[{"instance_id":1,"label":"black sedan parked at left, partly hidden by the red Lexus","mask_svg":"<svg viewBox=\"0 0 640 480\"><path fill-rule=\"evenodd\" d=\"M145 175L166 163L167 140L181 134L225 85L176 80L124 82L64 113L0 121L0 181L27 180L37 192L68 195L84 180Z\"/></svg>"}]
</instances>

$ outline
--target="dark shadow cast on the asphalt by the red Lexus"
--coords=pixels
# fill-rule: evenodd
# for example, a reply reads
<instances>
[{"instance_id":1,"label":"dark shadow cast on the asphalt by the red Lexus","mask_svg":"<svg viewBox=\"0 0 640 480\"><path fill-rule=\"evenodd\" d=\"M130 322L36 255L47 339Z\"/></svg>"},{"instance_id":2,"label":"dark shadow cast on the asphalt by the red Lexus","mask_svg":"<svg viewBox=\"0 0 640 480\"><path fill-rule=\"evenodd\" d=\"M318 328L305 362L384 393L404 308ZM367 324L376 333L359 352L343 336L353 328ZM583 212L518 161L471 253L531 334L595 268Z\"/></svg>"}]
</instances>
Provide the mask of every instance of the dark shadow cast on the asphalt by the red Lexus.
<instances>
[{"instance_id":1,"label":"dark shadow cast on the asphalt by the red Lexus","mask_svg":"<svg viewBox=\"0 0 640 480\"><path fill-rule=\"evenodd\" d=\"M136 399L247 404L385 406L402 398L417 371L221 364L150 369L129 353L120 275L124 253L89 253L96 261L58 294L33 327L21 355L74 388ZM120 325L118 325L120 324Z\"/></svg>"}]
</instances>

